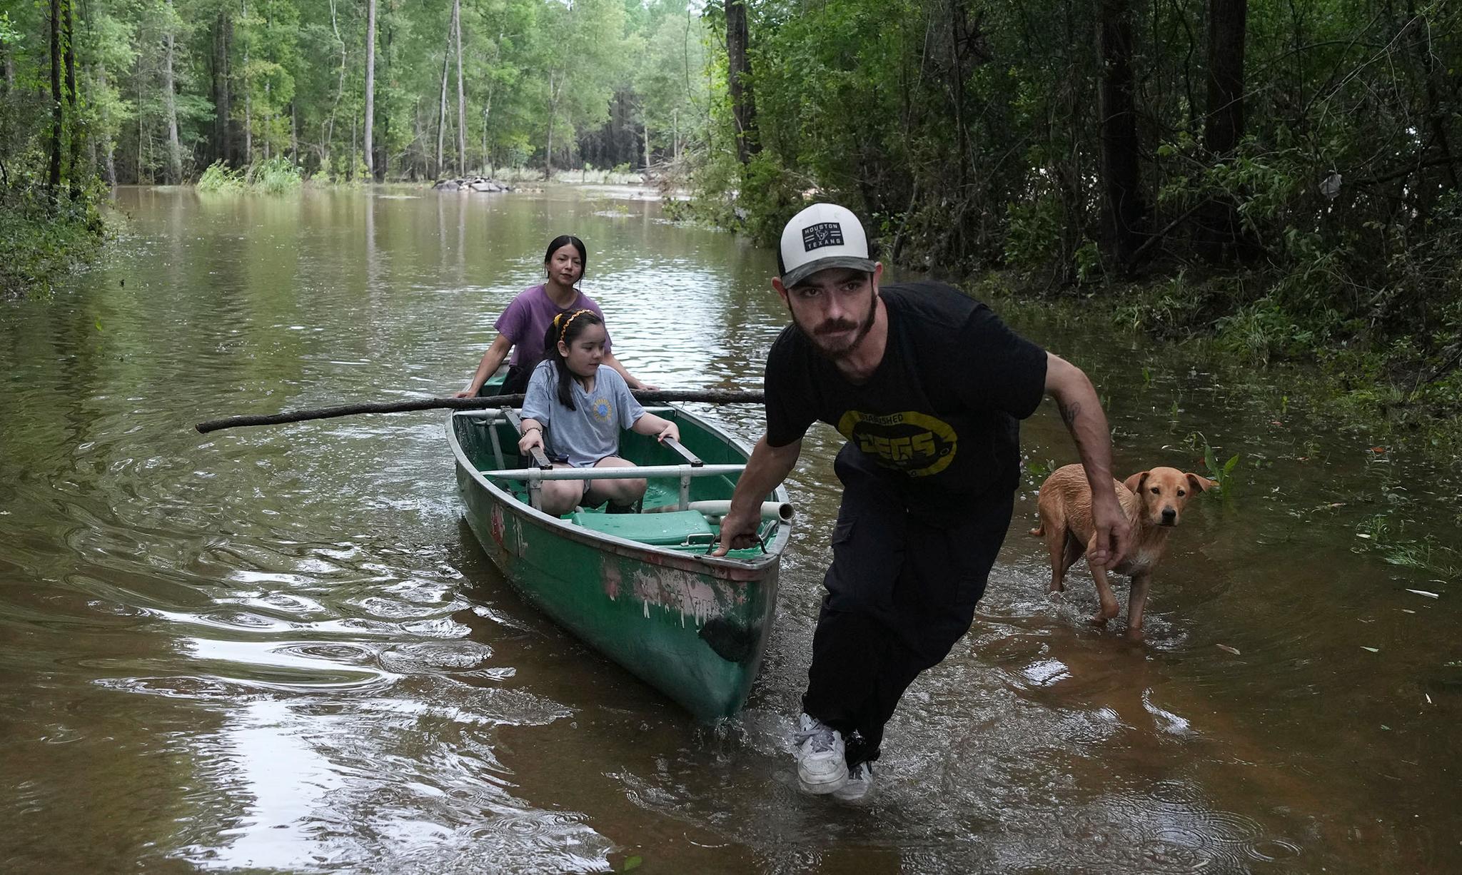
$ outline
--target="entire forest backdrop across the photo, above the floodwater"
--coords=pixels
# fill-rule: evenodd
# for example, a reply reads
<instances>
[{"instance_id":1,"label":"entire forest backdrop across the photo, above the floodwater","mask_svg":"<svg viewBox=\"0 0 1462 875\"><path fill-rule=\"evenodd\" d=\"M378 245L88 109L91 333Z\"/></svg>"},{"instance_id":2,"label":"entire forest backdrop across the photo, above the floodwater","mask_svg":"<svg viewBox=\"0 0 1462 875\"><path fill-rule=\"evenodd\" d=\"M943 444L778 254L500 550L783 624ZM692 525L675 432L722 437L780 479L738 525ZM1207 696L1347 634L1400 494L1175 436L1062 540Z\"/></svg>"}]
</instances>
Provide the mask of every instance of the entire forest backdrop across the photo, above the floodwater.
<instances>
[{"instance_id":1,"label":"entire forest backdrop across the photo, above the floodwater","mask_svg":"<svg viewBox=\"0 0 1462 875\"><path fill-rule=\"evenodd\" d=\"M377 180L651 168L763 242L839 200L887 260L1462 410L1458 3L39 0L0 63L7 288L98 177L363 181L370 102Z\"/></svg>"}]
</instances>

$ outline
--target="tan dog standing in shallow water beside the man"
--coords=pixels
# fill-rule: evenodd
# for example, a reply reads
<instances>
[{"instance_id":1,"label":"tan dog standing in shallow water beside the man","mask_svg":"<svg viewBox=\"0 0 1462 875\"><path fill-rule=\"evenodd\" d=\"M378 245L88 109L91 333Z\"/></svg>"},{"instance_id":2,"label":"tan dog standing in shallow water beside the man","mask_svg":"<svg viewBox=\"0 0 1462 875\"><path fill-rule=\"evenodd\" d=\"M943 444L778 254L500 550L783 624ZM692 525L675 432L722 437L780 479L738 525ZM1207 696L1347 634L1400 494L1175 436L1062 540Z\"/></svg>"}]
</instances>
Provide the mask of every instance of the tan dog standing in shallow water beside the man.
<instances>
[{"instance_id":1,"label":"tan dog standing in shallow water beside the man","mask_svg":"<svg viewBox=\"0 0 1462 875\"><path fill-rule=\"evenodd\" d=\"M1121 504L1123 513L1127 514L1127 521L1132 523L1132 546L1116 568L1091 567L1092 580L1096 581L1096 596L1101 599L1101 609L1091 618L1092 622L1101 625L1117 616L1117 597L1111 595L1107 573L1127 574L1132 577L1132 593L1127 599L1127 633L1140 637L1142 605L1148 600L1152 568L1162 558L1162 551L1167 549L1168 532L1178 524L1183 505L1194 492L1212 489L1216 485L1208 478L1183 473L1175 467L1154 467L1137 472L1124 484L1113 481L1117 501ZM1061 583L1066 570L1094 546L1095 539L1092 491L1086 484L1086 472L1082 466L1067 465L1045 478L1045 482L1041 484L1037 507L1041 513L1041 524L1032 529L1031 535L1044 538L1047 549L1051 551L1050 592L1058 593L1066 589Z\"/></svg>"}]
</instances>

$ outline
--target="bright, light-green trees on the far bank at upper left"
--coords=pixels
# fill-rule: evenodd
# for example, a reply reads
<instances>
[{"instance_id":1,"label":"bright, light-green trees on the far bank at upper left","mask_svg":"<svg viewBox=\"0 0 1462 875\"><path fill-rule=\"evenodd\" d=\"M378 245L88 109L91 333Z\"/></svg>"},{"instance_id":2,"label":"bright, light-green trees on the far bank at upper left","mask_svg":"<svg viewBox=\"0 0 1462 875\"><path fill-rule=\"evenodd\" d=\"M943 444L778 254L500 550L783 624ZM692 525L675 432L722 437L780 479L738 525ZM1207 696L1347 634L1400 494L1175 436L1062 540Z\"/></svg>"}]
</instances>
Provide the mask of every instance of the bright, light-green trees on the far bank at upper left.
<instances>
[{"instance_id":1,"label":"bright, light-green trees on the far bank at upper left","mask_svg":"<svg viewBox=\"0 0 1462 875\"><path fill-rule=\"evenodd\" d=\"M462 0L459 32L452 1L67 0L79 92L69 130L85 140L83 169L177 183L215 162L284 158L307 177L360 177L368 4L377 178L580 167L585 155L643 167L705 129L708 34L664 0ZM28 98L48 82L50 12L26 4L6 22L0 56L15 85L0 156L15 161L18 140L44 149L48 136L48 105Z\"/></svg>"}]
</instances>

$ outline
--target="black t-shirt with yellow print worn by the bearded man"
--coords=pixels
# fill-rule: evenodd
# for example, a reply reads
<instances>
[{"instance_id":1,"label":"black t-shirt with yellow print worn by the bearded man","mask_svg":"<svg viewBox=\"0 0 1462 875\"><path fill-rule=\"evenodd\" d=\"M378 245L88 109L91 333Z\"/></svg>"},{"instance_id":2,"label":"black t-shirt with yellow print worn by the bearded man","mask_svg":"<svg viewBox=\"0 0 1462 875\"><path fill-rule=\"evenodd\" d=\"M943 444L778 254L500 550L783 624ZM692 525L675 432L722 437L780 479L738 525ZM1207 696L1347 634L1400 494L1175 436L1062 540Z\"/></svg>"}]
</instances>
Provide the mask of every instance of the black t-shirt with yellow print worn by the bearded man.
<instances>
[{"instance_id":1,"label":"black t-shirt with yellow print worn by the bearded man","mask_svg":"<svg viewBox=\"0 0 1462 875\"><path fill-rule=\"evenodd\" d=\"M849 383L787 326L766 356L766 443L822 421L848 462L911 507L953 508L1019 484L1019 424L1045 391L1045 351L984 304L942 283L879 289L889 340L873 375Z\"/></svg>"}]
</instances>

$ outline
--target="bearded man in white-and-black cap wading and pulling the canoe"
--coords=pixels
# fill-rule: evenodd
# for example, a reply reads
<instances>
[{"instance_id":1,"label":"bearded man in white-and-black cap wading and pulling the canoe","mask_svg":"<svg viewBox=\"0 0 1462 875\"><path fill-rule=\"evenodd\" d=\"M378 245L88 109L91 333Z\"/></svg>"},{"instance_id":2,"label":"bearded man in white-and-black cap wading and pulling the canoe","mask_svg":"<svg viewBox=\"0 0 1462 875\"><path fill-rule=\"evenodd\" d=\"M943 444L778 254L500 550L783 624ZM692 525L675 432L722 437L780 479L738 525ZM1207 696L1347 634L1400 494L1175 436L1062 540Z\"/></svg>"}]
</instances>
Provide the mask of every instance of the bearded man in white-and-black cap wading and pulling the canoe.
<instances>
[{"instance_id":1,"label":"bearded man in white-and-black cap wading and pulling the canoe","mask_svg":"<svg viewBox=\"0 0 1462 875\"><path fill-rule=\"evenodd\" d=\"M754 543L762 497L797 463L813 422L848 443L842 505L813 634L797 735L803 790L864 798L883 726L924 669L974 621L1010 524L1019 419L1050 394L1092 486L1098 548L1114 565L1129 524L1111 476L1107 418L1086 375L940 283L879 285L857 216L814 205L782 229L772 288L792 324L766 359L766 434L721 523Z\"/></svg>"}]
</instances>

